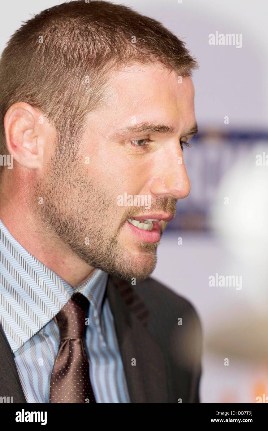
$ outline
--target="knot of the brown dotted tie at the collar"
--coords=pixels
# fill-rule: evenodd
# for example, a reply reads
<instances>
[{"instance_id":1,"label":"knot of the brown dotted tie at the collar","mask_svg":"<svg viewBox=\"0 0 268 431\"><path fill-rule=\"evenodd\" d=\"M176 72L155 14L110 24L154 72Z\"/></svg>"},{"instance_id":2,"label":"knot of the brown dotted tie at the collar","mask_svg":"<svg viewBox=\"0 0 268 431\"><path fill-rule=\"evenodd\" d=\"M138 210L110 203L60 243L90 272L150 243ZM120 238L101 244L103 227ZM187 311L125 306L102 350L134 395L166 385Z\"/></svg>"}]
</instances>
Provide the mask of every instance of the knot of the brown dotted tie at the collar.
<instances>
[{"instance_id":1,"label":"knot of the brown dotted tie at the collar","mask_svg":"<svg viewBox=\"0 0 268 431\"><path fill-rule=\"evenodd\" d=\"M56 315L60 339L83 338L89 301L80 293L73 294L68 303Z\"/></svg>"}]
</instances>

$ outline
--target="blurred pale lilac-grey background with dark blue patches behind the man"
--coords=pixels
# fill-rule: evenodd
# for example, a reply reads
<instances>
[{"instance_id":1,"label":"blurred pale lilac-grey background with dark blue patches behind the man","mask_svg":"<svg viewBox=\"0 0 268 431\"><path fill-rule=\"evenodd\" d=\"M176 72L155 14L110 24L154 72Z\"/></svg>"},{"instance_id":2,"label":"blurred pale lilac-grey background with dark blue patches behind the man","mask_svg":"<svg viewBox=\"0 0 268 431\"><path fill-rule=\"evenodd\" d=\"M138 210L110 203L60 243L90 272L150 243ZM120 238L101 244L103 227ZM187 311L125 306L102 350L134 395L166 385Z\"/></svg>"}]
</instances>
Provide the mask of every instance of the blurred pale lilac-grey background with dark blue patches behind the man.
<instances>
[{"instance_id":1,"label":"blurred pale lilac-grey background with dark blue patches behind the man","mask_svg":"<svg viewBox=\"0 0 268 431\"><path fill-rule=\"evenodd\" d=\"M0 50L22 20L59 3L7 3ZM201 403L268 402L267 1L114 3L162 22L200 65L193 76L200 132L184 150L191 193L178 201L152 276L200 316ZM242 35L242 46L209 44L216 32Z\"/></svg>"}]
</instances>

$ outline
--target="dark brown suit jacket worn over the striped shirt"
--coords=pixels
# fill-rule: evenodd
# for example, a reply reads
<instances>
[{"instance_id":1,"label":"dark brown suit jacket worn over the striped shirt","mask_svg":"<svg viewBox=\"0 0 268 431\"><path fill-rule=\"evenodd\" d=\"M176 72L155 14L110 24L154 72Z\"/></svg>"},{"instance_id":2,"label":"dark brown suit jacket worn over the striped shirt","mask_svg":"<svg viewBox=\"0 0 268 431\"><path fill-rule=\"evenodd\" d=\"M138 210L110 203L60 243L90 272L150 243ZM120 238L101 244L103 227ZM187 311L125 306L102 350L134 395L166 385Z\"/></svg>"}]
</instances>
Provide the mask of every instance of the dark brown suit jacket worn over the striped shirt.
<instances>
[{"instance_id":1,"label":"dark brown suit jacket worn over the striped shirt","mask_svg":"<svg viewBox=\"0 0 268 431\"><path fill-rule=\"evenodd\" d=\"M199 403L202 331L191 303L152 278L132 286L109 275L107 295L131 403ZM1 326L0 396L26 403Z\"/></svg>"}]
</instances>

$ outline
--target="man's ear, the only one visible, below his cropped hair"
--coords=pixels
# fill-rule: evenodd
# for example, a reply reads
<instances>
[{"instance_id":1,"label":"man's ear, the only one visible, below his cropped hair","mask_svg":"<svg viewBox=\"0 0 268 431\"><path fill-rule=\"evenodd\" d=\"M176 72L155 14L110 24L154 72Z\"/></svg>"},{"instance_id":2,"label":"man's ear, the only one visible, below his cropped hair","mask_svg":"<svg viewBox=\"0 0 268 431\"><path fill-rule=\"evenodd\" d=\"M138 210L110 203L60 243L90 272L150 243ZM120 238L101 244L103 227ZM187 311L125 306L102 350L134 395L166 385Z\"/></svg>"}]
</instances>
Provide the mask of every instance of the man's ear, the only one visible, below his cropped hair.
<instances>
[{"instance_id":1,"label":"man's ear, the only one visible, below his cropped hair","mask_svg":"<svg viewBox=\"0 0 268 431\"><path fill-rule=\"evenodd\" d=\"M28 169L43 166L41 113L28 103L14 103L4 118L6 147L19 165Z\"/></svg>"}]
</instances>

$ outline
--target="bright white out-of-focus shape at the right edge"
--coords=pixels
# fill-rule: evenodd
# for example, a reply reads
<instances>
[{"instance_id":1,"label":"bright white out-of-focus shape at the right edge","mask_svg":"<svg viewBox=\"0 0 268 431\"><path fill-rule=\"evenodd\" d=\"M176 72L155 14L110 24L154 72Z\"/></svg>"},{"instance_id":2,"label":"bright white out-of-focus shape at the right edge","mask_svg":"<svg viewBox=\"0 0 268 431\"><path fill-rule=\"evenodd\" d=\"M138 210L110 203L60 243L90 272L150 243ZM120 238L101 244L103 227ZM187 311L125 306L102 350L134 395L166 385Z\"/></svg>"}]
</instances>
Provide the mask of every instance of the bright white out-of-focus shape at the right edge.
<instances>
[{"instance_id":1,"label":"bright white out-of-focus shape at the right edge","mask_svg":"<svg viewBox=\"0 0 268 431\"><path fill-rule=\"evenodd\" d=\"M268 143L258 142L227 172L216 195L211 225L243 264L246 295L261 314L268 307ZM226 202L228 198L228 203ZM239 263L239 264L238 264Z\"/></svg>"}]
</instances>

